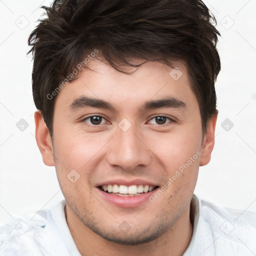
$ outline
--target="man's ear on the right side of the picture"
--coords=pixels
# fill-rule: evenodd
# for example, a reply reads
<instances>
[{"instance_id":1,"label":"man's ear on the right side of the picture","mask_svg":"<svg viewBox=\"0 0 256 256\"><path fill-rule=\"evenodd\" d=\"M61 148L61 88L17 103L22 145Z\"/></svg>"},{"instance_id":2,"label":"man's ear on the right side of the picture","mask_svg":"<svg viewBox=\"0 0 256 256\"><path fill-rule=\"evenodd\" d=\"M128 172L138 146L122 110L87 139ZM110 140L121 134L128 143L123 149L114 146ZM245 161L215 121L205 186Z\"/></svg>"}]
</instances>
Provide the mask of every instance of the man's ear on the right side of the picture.
<instances>
[{"instance_id":1,"label":"man's ear on the right side of the picture","mask_svg":"<svg viewBox=\"0 0 256 256\"><path fill-rule=\"evenodd\" d=\"M214 114L207 122L206 133L202 142L200 166L206 165L210 161L210 154L214 146L216 120L217 114Z\"/></svg>"}]
</instances>

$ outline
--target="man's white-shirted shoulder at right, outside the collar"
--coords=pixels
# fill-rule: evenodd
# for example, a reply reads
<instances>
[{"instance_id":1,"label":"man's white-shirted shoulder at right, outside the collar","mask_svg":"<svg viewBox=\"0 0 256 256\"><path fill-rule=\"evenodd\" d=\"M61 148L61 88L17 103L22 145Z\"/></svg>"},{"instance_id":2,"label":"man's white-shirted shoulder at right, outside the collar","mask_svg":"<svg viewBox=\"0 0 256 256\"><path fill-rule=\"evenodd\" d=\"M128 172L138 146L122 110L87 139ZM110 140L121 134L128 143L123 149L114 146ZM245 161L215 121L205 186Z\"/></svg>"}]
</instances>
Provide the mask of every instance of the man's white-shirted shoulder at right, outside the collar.
<instances>
[{"instance_id":1,"label":"man's white-shirted shoulder at right, outside the collar","mask_svg":"<svg viewBox=\"0 0 256 256\"><path fill-rule=\"evenodd\" d=\"M192 200L198 200L195 246L200 251L207 248L209 254L205 255L236 255L237 251L247 255L248 248L256 251L256 213L222 207L195 196Z\"/></svg>"}]
</instances>

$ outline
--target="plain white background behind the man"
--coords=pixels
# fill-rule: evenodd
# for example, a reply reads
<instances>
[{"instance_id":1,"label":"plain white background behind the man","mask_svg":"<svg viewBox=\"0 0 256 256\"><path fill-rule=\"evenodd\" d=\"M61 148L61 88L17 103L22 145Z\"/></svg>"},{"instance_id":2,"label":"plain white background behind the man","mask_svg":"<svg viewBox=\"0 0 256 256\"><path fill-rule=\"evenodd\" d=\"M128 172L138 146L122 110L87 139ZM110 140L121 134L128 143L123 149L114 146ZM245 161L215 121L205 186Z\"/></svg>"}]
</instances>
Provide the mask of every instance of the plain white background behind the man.
<instances>
[{"instance_id":1,"label":"plain white background behind the man","mask_svg":"<svg viewBox=\"0 0 256 256\"><path fill-rule=\"evenodd\" d=\"M42 14L38 7L50 2L0 0L0 224L63 198L55 169L43 164L35 142L32 62L26 56L28 35ZM221 33L219 114L211 161L199 169L195 194L256 212L256 0L204 2ZM24 131L16 127L21 118L29 124ZM234 124L228 131L221 127L226 118Z\"/></svg>"}]
</instances>

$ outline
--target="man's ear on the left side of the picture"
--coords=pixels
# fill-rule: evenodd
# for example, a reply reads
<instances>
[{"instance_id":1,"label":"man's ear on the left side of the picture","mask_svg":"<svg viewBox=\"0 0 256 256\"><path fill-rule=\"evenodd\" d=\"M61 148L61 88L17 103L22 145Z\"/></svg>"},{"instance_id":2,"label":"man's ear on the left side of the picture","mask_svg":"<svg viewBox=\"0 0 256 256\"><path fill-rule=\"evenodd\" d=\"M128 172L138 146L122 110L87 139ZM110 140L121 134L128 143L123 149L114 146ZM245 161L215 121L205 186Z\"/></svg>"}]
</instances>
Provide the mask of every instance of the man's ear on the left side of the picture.
<instances>
[{"instance_id":1,"label":"man's ear on the left side of the picture","mask_svg":"<svg viewBox=\"0 0 256 256\"><path fill-rule=\"evenodd\" d=\"M42 160L44 164L54 166L51 137L39 110L34 112L34 122L36 143L41 152Z\"/></svg>"}]
</instances>

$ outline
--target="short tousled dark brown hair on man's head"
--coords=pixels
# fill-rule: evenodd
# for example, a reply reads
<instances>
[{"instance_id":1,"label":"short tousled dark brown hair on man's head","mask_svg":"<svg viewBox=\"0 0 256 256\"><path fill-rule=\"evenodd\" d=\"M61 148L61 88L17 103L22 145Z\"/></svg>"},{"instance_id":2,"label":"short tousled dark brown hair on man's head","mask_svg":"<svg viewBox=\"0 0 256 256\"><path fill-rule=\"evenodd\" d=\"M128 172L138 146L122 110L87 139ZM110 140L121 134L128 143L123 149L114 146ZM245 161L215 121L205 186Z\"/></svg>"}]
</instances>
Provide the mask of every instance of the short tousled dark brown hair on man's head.
<instances>
[{"instance_id":1,"label":"short tousled dark brown hair on man's head","mask_svg":"<svg viewBox=\"0 0 256 256\"><path fill-rule=\"evenodd\" d=\"M201 0L54 0L42 8L46 18L39 20L28 44L33 53L33 99L51 136L55 97L47 95L93 49L118 71L121 65L132 65L132 59L170 66L173 60L184 60L206 130L208 119L217 113L220 33Z\"/></svg>"}]
</instances>

